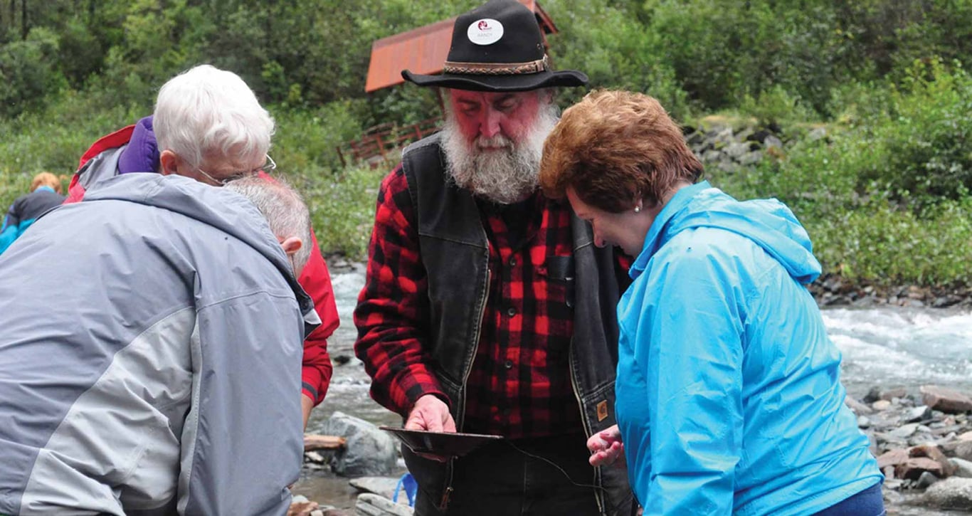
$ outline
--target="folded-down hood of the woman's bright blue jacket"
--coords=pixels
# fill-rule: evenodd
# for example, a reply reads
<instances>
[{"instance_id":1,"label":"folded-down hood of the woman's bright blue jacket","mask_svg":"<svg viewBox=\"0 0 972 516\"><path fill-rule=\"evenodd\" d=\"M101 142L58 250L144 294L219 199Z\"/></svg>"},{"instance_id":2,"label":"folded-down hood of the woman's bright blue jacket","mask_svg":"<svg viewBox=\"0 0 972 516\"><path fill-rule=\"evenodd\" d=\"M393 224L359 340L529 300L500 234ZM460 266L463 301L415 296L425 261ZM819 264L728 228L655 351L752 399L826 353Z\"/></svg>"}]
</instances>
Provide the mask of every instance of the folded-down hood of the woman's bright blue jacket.
<instances>
[{"instance_id":1,"label":"folded-down hood of the woman's bright blue jacket","mask_svg":"<svg viewBox=\"0 0 972 516\"><path fill-rule=\"evenodd\" d=\"M776 258L802 284L820 275L810 235L793 212L777 199L738 201L708 181L679 189L658 214L644 238L642 254L632 265L640 274L648 259L679 232L717 227L745 236Z\"/></svg>"}]
</instances>

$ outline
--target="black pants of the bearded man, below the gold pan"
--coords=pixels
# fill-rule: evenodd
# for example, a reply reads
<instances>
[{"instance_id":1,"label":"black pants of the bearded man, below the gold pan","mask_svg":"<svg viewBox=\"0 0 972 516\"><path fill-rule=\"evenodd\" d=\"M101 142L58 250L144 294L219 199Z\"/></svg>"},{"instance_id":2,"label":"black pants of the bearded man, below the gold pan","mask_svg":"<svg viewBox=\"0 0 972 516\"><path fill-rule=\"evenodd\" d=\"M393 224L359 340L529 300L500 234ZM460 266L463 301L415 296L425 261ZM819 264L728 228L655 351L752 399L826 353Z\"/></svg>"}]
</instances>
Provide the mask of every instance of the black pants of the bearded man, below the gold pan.
<instances>
[{"instance_id":1,"label":"black pants of the bearded man, below the gold pan","mask_svg":"<svg viewBox=\"0 0 972 516\"><path fill-rule=\"evenodd\" d=\"M559 465L529 457L513 447ZM598 516L594 468L582 433L487 444L452 464L402 455L418 481L416 516ZM451 476L451 481L450 481ZM584 487L575 486L573 483ZM451 491L449 488L451 487ZM440 504L447 495L444 510Z\"/></svg>"}]
</instances>

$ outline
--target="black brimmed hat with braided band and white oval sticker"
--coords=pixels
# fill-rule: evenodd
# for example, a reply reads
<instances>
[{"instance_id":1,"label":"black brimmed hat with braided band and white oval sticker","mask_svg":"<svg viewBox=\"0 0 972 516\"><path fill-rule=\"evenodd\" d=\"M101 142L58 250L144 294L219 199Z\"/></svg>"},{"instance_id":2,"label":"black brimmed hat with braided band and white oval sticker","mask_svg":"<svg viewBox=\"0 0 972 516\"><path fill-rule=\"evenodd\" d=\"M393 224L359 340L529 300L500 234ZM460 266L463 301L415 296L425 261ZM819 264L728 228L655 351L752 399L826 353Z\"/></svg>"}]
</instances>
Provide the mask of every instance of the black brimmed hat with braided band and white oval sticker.
<instances>
[{"instance_id":1,"label":"black brimmed hat with braided band and white oval sticker","mask_svg":"<svg viewBox=\"0 0 972 516\"><path fill-rule=\"evenodd\" d=\"M490 0L457 17L452 46L440 75L402 70L401 77L418 86L474 91L587 84L582 72L550 69L537 17L516 0Z\"/></svg>"}]
</instances>

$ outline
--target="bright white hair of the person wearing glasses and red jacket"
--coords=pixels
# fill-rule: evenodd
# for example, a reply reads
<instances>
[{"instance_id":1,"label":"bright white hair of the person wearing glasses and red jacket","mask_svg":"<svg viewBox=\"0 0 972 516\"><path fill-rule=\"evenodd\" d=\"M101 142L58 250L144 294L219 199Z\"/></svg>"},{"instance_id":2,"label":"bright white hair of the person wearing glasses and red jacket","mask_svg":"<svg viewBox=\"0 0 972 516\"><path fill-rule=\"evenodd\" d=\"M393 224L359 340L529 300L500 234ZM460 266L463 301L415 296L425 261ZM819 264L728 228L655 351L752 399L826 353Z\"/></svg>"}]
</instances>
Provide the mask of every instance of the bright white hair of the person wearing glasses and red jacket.
<instances>
[{"instance_id":1,"label":"bright white hair of the person wearing glasses and red jacket","mask_svg":"<svg viewBox=\"0 0 972 516\"><path fill-rule=\"evenodd\" d=\"M259 161L270 149L273 119L238 75L203 64L158 90L158 149L199 166L209 153Z\"/></svg>"}]
</instances>

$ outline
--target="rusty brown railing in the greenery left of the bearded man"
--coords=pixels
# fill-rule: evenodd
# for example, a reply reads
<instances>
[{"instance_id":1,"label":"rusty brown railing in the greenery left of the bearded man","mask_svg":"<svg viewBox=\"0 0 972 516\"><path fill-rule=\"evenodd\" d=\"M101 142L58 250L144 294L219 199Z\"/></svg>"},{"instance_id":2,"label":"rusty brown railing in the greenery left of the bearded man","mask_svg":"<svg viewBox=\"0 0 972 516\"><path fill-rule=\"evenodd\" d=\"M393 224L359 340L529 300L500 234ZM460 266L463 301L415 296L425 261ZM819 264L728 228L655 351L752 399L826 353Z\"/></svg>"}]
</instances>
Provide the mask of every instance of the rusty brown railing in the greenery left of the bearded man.
<instances>
[{"instance_id":1,"label":"rusty brown railing in the greenery left of the bearded man","mask_svg":"<svg viewBox=\"0 0 972 516\"><path fill-rule=\"evenodd\" d=\"M434 118L411 125L387 122L368 127L360 139L337 147L341 166L364 161L374 168L397 162L401 149L434 133L441 123L441 118Z\"/></svg>"}]
</instances>

